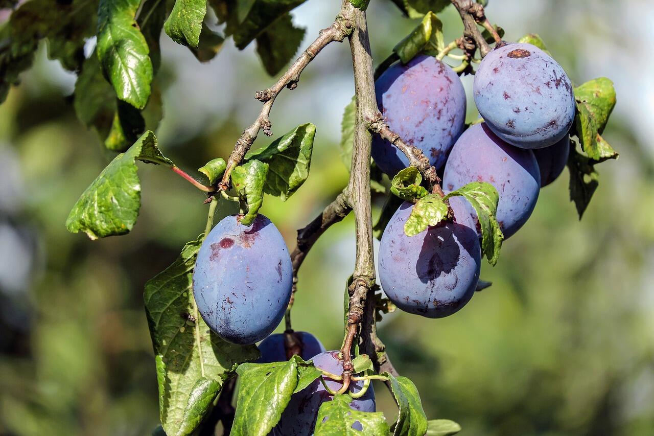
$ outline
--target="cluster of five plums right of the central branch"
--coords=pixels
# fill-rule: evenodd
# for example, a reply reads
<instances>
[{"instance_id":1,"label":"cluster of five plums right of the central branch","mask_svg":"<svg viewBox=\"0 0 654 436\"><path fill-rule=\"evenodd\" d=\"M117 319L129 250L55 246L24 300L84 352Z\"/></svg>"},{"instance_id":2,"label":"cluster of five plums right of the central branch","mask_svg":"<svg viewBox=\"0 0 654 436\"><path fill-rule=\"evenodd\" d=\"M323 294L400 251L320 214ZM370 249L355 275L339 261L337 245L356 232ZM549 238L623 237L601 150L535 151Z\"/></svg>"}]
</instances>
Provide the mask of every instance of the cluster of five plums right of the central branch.
<instances>
[{"instance_id":1,"label":"cluster of five plums right of the central branch","mask_svg":"<svg viewBox=\"0 0 654 436\"><path fill-rule=\"evenodd\" d=\"M540 189L568 160L575 115L570 79L540 48L513 43L495 48L475 73L473 96L483 122L464 128L466 98L458 75L430 56L392 65L377 79L377 103L388 126L415 145L443 173L445 192L487 182L499 194L496 219L504 238L530 217ZM408 161L388 141L373 140L377 166L390 177ZM453 221L416 236L404 232L413 204L390 219L379 247L379 280L398 308L428 318L460 310L479 280L477 215L450 198Z\"/></svg>"}]
</instances>

